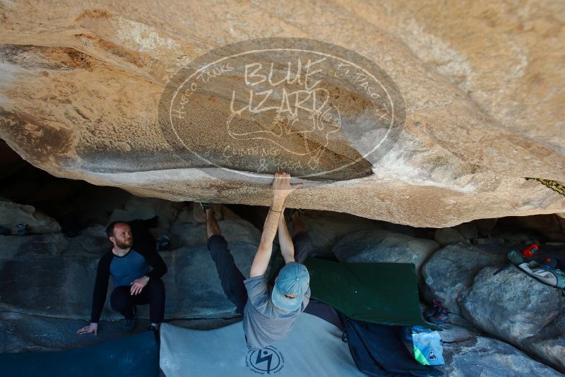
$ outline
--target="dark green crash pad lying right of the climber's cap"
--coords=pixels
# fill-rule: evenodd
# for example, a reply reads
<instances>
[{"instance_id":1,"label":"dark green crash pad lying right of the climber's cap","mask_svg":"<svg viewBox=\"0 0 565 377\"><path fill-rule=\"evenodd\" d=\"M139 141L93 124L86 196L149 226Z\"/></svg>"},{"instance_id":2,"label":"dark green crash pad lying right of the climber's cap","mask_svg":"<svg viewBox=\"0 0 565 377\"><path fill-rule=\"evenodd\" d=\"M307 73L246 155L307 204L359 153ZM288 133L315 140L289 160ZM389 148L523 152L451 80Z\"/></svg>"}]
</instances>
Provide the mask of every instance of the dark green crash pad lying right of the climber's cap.
<instances>
[{"instance_id":1,"label":"dark green crash pad lying right of the climber's cap","mask_svg":"<svg viewBox=\"0 0 565 377\"><path fill-rule=\"evenodd\" d=\"M275 260L273 267L282 263L282 258ZM422 318L412 263L338 263L307 258L304 265L310 273L311 298L333 306L347 317L439 330Z\"/></svg>"}]
</instances>

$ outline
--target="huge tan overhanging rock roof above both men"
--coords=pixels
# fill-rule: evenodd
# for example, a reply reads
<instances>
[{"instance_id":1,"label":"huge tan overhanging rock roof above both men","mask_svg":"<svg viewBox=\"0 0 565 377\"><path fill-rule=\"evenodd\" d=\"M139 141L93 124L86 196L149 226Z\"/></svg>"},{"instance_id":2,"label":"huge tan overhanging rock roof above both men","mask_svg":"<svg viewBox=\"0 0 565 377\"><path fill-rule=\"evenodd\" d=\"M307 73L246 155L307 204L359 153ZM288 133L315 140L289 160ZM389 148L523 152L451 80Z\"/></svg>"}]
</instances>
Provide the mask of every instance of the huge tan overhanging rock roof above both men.
<instances>
[{"instance_id":1,"label":"huge tan overhanging rock roof above both men","mask_svg":"<svg viewBox=\"0 0 565 377\"><path fill-rule=\"evenodd\" d=\"M303 172L283 166L290 157L279 156L276 167L246 176L265 151L239 140L241 148L226 155L201 137L225 130L216 100L229 100L230 82L198 98L202 112L189 133L203 160L179 157L161 132L160 98L178 71L217 47L312 38L379 66L403 97L405 121L379 160L367 157L359 169L323 180L301 179L306 186L292 194L290 207L417 227L564 212L563 196L523 178L565 181L565 70L560 54L547 53L564 50L557 15L565 6L526 3L7 1L0 8L0 138L55 176L173 201L267 205L269 174L281 167ZM371 124L359 92L330 92L349 126ZM256 131L269 132L272 121L258 116ZM339 163L364 155L374 138L333 135L333 144L319 143L318 133L309 143ZM303 141L288 133L280 143L296 152ZM273 145L263 146L268 154Z\"/></svg>"}]
</instances>

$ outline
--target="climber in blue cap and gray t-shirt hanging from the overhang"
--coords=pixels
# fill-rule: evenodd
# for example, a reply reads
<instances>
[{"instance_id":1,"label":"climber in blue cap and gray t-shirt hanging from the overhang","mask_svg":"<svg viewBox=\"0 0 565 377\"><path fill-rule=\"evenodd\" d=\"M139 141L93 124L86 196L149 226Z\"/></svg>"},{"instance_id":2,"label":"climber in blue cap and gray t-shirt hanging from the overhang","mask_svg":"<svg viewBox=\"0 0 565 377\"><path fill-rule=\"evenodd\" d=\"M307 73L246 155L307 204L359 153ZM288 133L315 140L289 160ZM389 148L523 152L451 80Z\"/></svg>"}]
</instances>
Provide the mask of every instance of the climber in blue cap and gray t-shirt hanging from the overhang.
<instances>
[{"instance_id":1,"label":"climber in blue cap and gray t-shirt hanging from the overhang","mask_svg":"<svg viewBox=\"0 0 565 377\"><path fill-rule=\"evenodd\" d=\"M220 275L222 289L236 306L237 313L244 316L243 328L249 349L261 349L285 337L310 299L310 275L302 264L307 255L309 237L302 232L291 238L283 216L285 199L299 186L302 184L290 184L290 174L275 174L273 205L265 220L249 279L245 279L235 265L227 249L227 241L220 234L212 206L201 204L206 213L208 250ZM273 289L270 289L266 271L277 230L285 266L278 273Z\"/></svg>"}]
</instances>

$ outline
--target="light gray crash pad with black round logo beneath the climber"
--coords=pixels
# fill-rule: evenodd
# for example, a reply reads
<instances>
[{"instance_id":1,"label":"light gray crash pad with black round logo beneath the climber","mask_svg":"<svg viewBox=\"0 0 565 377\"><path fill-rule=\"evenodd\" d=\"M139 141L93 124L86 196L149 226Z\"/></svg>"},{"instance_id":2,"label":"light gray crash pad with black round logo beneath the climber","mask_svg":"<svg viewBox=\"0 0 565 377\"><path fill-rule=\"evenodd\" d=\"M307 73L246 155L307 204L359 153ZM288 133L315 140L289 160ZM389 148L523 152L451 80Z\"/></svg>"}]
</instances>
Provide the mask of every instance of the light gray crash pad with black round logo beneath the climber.
<instances>
[{"instance_id":1,"label":"light gray crash pad with black round logo beneath the climber","mask_svg":"<svg viewBox=\"0 0 565 377\"><path fill-rule=\"evenodd\" d=\"M249 351L242 323L216 330L188 330L164 323L160 366L180 376L364 376L357 370L342 332L303 313L283 340Z\"/></svg>"}]
</instances>

